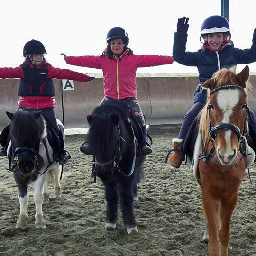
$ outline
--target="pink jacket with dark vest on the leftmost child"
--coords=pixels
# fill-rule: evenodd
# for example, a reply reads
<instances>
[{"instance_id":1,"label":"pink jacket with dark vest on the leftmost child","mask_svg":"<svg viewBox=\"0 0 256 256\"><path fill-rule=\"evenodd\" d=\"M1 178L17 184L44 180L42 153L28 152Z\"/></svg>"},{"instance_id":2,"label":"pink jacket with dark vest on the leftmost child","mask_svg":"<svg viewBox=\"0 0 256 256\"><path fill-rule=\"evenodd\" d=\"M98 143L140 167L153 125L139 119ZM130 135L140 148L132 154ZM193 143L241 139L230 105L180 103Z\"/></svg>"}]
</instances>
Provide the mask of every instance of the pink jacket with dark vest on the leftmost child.
<instances>
[{"instance_id":1,"label":"pink jacket with dark vest on the leftmost child","mask_svg":"<svg viewBox=\"0 0 256 256\"><path fill-rule=\"evenodd\" d=\"M24 66L26 66L26 69ZM29 72L26 71L27 69L29 69ZM40 70L40 72L38 73L37 70ZM46 75L46 78L41 79L39 75L41 77ZM54 68L46 60L37 66L25 61L15 68L0 68L0 78L20 78L18 106L30 109L55 107L53 78L77 80L80 82L89 81L89 76L86 74L69 69Z\"/></svg>"}]
</instances>

